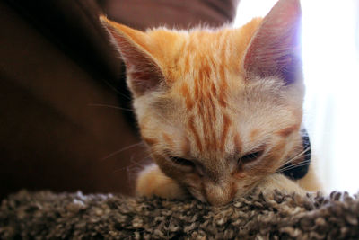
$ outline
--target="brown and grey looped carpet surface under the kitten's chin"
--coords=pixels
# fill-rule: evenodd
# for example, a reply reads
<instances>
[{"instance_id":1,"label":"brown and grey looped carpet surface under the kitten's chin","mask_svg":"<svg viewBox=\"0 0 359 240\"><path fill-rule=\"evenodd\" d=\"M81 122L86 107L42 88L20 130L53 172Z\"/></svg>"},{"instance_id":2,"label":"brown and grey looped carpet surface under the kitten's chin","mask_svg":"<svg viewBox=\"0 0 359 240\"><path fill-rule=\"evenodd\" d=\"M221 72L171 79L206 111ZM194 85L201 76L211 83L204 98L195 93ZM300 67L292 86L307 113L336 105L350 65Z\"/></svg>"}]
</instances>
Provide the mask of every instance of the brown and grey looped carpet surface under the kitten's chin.
<instances>
[{"instance_id":1,"label":"brown and grey looped carpet surface under the kitten's chin","mask_svg":"<svg viewBox=\"0 0 359 240\"><path fill-rule=\"evenodd\" d=\"M276 191L223 207L197 200L20 191L3 200L0 239L359 239L359 197Z\"/></svg>"}]
</instances>

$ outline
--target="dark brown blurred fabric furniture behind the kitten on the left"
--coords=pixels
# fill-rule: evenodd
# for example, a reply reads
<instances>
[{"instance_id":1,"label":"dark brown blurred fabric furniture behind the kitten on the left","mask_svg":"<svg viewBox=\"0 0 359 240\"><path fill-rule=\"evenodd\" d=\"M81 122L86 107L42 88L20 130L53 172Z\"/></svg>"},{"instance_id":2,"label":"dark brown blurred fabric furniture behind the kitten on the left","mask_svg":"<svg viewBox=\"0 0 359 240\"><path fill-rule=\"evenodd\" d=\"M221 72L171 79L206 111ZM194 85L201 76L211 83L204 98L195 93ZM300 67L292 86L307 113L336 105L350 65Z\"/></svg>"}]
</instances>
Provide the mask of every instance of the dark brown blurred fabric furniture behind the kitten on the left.
<instances>
[{"instance_id":1,"label":"dark brown blurred fabric furniture behind the kitten on the left","mask_svg":"<svg viewBox=\"0 0 359 240\"><path fill-rule=\"evenodd\" d=\"M96 106L130 108L125 67L99 14L137 29L219 26L236 4L0 2L0 198L22 188L132 193L147 155L142 144L129 147L140 143L130 111Z\"/></svg>"}]
</instances>

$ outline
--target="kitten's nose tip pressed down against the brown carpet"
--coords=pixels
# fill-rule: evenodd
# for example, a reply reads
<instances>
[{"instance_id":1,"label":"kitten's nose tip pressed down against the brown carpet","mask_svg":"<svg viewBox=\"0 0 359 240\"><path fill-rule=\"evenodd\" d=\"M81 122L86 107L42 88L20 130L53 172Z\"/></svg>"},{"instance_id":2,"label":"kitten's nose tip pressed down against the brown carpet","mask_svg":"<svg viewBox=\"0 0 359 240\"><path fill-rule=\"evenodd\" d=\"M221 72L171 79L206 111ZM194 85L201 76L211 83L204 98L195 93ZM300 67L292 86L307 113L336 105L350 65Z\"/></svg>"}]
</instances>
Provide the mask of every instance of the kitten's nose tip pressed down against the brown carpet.
<instances>
[{"instance_id":1,"label":"kitten's nose tip pressed down against the brown carpet","mask_svg":"<svg viewBox=\"0 0 359 240\"><path fill-rule=\"evenodd\" d=\"M224 205L233 200L237 189L234 182L206 184L206 200L211 205Z\"/></svg>"}]
</instances>

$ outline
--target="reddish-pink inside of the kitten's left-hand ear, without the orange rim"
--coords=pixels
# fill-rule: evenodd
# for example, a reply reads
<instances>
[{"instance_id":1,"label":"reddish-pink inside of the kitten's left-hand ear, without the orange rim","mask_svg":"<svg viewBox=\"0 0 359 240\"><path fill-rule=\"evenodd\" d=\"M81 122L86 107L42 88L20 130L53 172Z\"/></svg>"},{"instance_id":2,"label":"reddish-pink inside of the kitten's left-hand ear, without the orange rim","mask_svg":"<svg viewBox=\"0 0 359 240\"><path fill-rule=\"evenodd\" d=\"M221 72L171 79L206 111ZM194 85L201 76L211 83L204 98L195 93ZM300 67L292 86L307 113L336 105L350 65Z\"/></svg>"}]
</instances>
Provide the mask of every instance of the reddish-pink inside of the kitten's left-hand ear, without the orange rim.
<instances>
[{"instance_id":1,"label":"reddish-pink inside of the kitten's left-hand ear, without the orange rim","mask_svg":"<svg viewBox=\"0 0 359 240\"><path fill-rule=\"evenodd\" d=\"M127 83L136 95L143 95L145 92L157 87L164 77L161 67L155 62L150 53L146 52L140 45L125 36L124 33L109 28L114 40L118 45L119 52L123 58L127 76L130 77Z\"/></svg>"}]
</instances>

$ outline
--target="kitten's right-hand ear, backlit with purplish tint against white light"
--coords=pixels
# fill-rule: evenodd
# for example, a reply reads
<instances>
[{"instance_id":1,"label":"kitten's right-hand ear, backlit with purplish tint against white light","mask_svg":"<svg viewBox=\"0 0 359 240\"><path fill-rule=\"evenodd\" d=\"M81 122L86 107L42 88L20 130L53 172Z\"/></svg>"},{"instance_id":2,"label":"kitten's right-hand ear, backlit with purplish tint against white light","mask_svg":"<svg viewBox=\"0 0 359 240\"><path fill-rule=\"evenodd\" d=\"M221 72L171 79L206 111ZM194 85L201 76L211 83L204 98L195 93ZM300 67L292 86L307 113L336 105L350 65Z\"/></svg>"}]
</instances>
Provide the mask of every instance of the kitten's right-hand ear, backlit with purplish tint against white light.
<instances>
[{"instance_id":1,"label":"kitten's right-hand ear, backlit with purplish tint against white light","mask_svg":"<svg viewBox=\"0 0 359 240\"><path fill-rule=\"evenodd\" d=\"M301 4L279 0L263 19L246 49L247 76L279 76L291 84L302 76Z\"/></svg>"}]
</instances>

